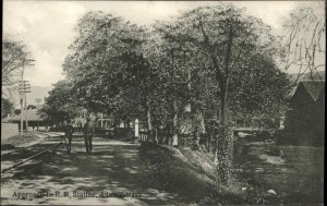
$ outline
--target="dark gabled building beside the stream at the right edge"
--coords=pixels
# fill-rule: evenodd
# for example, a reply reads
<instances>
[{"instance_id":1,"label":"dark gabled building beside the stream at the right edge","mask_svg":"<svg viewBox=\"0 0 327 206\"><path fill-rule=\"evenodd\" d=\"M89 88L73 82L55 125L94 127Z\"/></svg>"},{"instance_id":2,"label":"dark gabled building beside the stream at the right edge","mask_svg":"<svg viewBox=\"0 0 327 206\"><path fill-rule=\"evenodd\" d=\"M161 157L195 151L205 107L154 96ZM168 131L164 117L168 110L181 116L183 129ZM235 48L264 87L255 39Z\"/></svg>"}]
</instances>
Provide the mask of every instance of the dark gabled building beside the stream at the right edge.
<instances>
[{"instance_id":1,"label":"dark gabled building beside the stream at the right edge","mask_svg":"<svg viewBox=\"0 0 327 206\"><path fill-rule=\"evenodd\" d=\"M289 100L284 131L291 143L324 145L325 81L301 81Z\"/></svg>"}]
</instances>

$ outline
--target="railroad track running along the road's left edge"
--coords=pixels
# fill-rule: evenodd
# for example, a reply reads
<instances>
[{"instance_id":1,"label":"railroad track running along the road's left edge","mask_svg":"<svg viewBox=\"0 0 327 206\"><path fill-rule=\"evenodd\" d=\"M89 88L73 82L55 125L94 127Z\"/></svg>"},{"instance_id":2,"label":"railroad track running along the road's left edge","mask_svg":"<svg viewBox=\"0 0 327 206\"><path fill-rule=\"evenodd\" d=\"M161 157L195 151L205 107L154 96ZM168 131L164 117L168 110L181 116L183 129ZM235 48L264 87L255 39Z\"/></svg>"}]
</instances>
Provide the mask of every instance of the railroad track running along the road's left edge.
<instances>
[{"instance_id":1,"label":"railroad track running along the road's left edge","mask_svg":"<svg viewBox=\"0 0 327 206\"><path fill-rule=\"evenodd\" d=\"M47 135L46 140L43 141L43 142L40 142L40 143L36 143L36 144L33 144L33 145L29 145L29 146L26 146L26 147L22 147L22 148L12 150L12 152L10 152L10 153L2 154L2 155L1 155L1 161L3 161L3 160L2 160L3 157L10 157L10 155L19 154L19 153L21 153L21 152L28 150L28 149L31 149L31 148L36 148L37 146L45 146L45 143L47 143L48 137L50 137L50 138L52 137L52 136L49 135L49 134L46 134L46 135ZM35 153L34 153L34 154L31 154L31 156L27 157L27 158L19 159L17 161L15 161L15 162L14 162L13 165L11 165L10 167L8 167L8 168L1 170L1 174L2 174L2 173L5 173L7 171L9 171L9 170L11 170L11 169L13 169L13 168L20 167L20 166L22 166L22 165L24 165L24 163L31 161L32 159L34 159L34 158L36 158L36 157L39 157L39 156L41 156L43 154L45 154L45 153L47 153L47 152L49 152L49 150L51 150L51 149L55 149L55 148L59 147L60 145L63 145L63 144L64 144L64 143L63 143L63 137L62 137L62 136L59 136L59 140L61 140L61 141L60 141L59 143L55 143L55 145L48 146L48 147L46 147L46 148L41 148L41 149L37 150L36 154L35 154ZM27 152L26 152L26 153L27 153ZM28 154L28 153L27 153L27 154ZM11 159L11 160L12 160L12 159ZM16 159L14 159L14 160L16 160Z\"/></svg>"}]
</instances>

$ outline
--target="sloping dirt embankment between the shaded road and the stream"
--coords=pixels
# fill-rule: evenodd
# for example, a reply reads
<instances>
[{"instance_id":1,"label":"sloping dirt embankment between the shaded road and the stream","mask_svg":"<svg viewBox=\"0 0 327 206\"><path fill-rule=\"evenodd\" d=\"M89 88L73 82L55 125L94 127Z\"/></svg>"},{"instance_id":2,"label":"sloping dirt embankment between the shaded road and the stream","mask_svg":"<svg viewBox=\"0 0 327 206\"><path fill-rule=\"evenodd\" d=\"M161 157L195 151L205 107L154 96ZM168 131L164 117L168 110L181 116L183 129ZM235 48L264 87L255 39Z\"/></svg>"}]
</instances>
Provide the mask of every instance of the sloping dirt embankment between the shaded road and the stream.
<instances>
[{"instance_id":1,"label":"sloping dirt embankment between the shaded road and the stream","mask_svg":"<svg viewBox=\"0 0 327 206\"><path fill-rule=\"evenodd\" d=\"M183 196L195 204L242 204L245 192L232 181L222 186L217 181L216 166L207 154L190 148L171 148L143 144L141 156L152 162L161 185L169 192Z\"/></svg>"}]
</instances>

